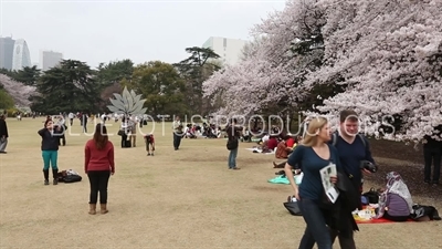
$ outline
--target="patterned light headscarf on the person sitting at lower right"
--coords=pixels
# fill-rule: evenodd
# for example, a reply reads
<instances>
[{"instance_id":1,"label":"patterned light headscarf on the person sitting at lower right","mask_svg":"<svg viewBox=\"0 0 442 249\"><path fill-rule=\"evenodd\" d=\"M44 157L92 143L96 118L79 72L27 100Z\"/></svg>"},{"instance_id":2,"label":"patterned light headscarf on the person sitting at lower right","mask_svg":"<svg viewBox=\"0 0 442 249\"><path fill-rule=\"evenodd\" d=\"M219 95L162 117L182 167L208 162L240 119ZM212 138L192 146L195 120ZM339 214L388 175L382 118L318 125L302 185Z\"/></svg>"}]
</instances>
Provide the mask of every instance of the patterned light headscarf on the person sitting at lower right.
<instances>
[{"instance_id":1,"label":"patterned light headscarf on the person sitting at lower right","mask_svg":"<svg viewBox=\"0 0 442 249\"><path fill-rule=\"evenodd\" d=\"M376 218L380 218L383 216L387 206L388 194L390 193L402 197L408 204L410 214L413 212L413 201L411 199L411 195L408 190L406 183L403 183L402 177L399 175L399 173L390 172L389 174L387 174L387 188L379 198L379 211Z\"/></svg>"}]
</instances>

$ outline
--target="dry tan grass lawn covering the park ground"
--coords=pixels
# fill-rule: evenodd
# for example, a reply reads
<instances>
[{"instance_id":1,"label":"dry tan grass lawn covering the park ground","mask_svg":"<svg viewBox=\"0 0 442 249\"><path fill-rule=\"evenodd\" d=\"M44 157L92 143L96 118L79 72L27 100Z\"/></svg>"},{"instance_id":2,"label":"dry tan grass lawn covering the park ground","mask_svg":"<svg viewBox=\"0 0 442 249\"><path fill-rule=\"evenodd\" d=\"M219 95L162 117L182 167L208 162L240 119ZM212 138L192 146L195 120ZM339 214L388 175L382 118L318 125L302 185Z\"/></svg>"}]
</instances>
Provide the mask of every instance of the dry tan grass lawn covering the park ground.
<instances>
[{"instance_id":1,"label":"dry tan grass lawn covering the park ground","mask_svg":"<svg viewBox=\"0 0 442 249\"><path fill-rule=\"evenodd\" d=\"M67 145L59 151L59 168L74 169L83 180L43 186L36 134L42 122L43 117L7 120L8 154L0 155L0 248L297 248L305 222L282 205L291 187L267 183L277 172L272 168L274 156L246 151L252 144L240 144L241 170L229 170L224 139L182 139L180 149L173 151L171 125L157 123L151 157L146 156L140 135L135 148L120 148L120 137L114 135L109 212L91 216L83 172L83 148L91 136L81 134L76 120L72 133L77 135L67 136ZM109 124L116 134L118 125ZM92 123L88 129L93 132ZM143 128L151 129L152 124ZM386 165L380 174L387 165L421 172L398 158L394 164L391 158L377 159ZM376 177L368 177L367 186L381 187ZM442 210L442 188L428 191L439 198L422 194L413 196L414 201ZM441 228L436 221L359 225L355 238L359 249L434 249L442 248Z\"/></svg>"}]
</instances>

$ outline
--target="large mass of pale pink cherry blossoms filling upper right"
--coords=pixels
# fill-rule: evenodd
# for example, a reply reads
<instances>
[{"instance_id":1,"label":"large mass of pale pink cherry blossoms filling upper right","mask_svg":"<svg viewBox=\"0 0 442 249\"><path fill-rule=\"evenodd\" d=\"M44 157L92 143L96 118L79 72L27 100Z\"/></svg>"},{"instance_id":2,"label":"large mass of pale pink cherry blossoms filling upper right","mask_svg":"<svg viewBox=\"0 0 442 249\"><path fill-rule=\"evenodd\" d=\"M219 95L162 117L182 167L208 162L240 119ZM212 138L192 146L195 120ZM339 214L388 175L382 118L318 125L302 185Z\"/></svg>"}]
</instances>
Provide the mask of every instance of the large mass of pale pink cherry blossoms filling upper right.
<instances>
[{"instance_id":1,"label":"large mass of pale pink cherry blossoms filling upper right","mask_svg":"<svg viewBox=\"0 0 442 249\"><path fill-rule=\"evenodd\" d=\"M442 0L290 0L204 93L222 95L225 114L352 107L368 134L420 141L442 123L441 15Z\"/></svg>"}]
</instances>

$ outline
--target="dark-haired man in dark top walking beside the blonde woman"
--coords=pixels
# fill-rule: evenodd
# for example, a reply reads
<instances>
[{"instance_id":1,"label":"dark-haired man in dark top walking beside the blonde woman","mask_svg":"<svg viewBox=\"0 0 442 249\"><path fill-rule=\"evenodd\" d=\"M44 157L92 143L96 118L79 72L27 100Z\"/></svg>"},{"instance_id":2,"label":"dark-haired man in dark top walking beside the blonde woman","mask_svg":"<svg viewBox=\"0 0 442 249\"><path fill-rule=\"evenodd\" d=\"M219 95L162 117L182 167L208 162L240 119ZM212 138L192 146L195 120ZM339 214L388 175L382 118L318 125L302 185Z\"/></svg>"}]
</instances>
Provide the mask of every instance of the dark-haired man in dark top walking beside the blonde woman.
<instances>
[{"instance_id":1,"label":"dark-haired man in dark top walking beside the blonde woman","mask_svg":"<svg viewBox=\"0 0 442 249\"><path fill-rule=\"evenodd\" d=\"M355 111L345 110L339 113L339 129L332 135L330 144L338 151L343 169L356 188L357 203L361 209L362 173L371 174L371 172L361 169L360 165L362 162L370 162L376 167L376 163L371 156L368 139L359 134L359 117ZM354 232L350 236L343 236L338 230L332 229L330 234L333 242L338 237L340 248L356 249Z\"/></svg>"}]
</instances>

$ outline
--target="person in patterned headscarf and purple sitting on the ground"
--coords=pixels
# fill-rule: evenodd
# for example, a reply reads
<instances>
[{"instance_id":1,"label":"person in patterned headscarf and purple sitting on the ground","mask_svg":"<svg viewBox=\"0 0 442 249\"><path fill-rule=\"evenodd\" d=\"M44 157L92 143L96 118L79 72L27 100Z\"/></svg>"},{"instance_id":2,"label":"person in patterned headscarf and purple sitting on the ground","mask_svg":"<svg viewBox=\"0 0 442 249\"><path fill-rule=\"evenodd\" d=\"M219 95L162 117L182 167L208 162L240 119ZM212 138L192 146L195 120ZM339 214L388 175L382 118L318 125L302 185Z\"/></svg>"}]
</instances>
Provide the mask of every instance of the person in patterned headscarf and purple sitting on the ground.
<instances>
[{"instance_id":1,"label":"person in patterned headscarf and purple sitting on the ground","mask_svg":"<svg viewBox=\"0 0 442 249\"><path fill-rule=\"evenodd\" d=\"M379 210L376 218L392 221L407 221L413 211L413 201L402 177L396 173L387 174L386 190L379 198Z\"/></svg>"}]
</instances>

